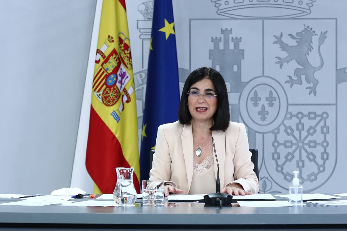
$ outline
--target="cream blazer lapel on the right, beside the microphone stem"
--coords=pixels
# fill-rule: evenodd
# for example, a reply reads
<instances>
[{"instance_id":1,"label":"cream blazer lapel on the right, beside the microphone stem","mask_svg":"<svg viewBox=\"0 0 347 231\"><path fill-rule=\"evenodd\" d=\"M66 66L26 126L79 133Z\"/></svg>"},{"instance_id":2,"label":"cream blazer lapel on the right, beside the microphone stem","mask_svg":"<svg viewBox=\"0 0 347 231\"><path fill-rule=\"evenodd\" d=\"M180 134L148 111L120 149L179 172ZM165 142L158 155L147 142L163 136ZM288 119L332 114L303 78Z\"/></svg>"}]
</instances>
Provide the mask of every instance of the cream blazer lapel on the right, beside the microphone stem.
<instances>
[{"instance_id":1,"label":"cream blazer lapel on the right, beside the microphone stem","mask_svg":"<svg viewBox=\"0 0 347 231\"><path fill-rule=\"evenodd\" d=\"M219 179L221 190L224 187L224 166L225 166L225 132L213 131L212 132L214 145L216 147L218 163L219 163ZM217 179L217 160L213 150L213 164L214 164L214 176Z\"/></svg>"}]
</instances>

